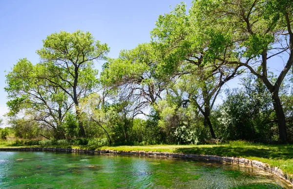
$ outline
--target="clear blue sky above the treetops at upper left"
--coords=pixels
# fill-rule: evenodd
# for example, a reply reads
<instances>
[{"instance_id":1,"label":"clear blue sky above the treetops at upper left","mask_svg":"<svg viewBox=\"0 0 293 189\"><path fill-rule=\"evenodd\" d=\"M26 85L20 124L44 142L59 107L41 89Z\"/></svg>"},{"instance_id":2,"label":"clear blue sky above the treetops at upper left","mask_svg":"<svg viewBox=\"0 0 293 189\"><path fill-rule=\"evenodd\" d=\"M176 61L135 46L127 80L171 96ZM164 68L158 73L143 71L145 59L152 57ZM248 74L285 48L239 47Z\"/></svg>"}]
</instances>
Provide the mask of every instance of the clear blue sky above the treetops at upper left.
<instances>
[{"instance_id":1,"label":"clear blue sky above the treetops at upper left","mask_svg":"<svg viewBox=\"0 0 293 189\"><path fill-rule=\"evenodd\" d=\"M4 71L20 58L38 63L35 52L47 35L60 30L89 31L97 40L108 43L109 56L115 58L122 49L149 42L158 16L180 1L0 0L0 117L7 112ZM189 7L191 0L184 1ZM101 64L96 67L100 69Z\"/></svg>"}]
</instances>

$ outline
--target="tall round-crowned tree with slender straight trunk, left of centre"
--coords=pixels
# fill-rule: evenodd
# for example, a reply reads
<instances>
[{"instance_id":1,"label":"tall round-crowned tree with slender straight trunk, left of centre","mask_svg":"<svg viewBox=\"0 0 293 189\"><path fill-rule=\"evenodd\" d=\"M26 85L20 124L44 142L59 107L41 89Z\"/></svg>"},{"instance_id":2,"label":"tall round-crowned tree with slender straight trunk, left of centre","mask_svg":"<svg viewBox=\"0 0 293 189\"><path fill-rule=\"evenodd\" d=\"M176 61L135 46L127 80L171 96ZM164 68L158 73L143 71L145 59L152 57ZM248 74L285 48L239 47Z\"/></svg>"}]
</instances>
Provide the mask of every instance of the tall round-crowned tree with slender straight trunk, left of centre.
<instances>
[{"instance_id":1,"label":"tall round-crowned tree with slender straight trunk, left of centre","mask_svg":"<svg viewBox=\"0 0 293 189\"><path fill-rule=\"evenodd\" d=\"M105 60L108 52L107 44L95 41L89 32L80 30L53 33L43 40L43 47L37 50L42 64L49 69L40 78L54 87L60 87L72 99L83 137L85 132L79 101L98 83L98 71L93 68L93 61Z\"/></svg>"}]
</instances>

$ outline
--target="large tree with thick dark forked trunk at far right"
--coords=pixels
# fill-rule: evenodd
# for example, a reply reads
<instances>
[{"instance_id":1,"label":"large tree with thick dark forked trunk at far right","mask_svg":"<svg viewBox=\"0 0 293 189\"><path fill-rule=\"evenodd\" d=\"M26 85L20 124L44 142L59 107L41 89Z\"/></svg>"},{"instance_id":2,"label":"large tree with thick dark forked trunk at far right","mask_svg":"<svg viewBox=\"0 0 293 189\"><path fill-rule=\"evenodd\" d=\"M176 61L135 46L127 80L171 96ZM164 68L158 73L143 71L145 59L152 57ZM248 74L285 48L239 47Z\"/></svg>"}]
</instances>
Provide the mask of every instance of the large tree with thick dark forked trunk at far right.
<instances>
[{"instance_id":1,"label":"large tree with thick dark forked trunk at far right","mask_svg":"<svg viewBox=\"0 0 293 189\"><path fill-rule=\"evenodd\" d=\"M202 33L214 33L207 43L213 50L224 49L213 60L239 65L258 77L271 93L279 139L287 142L285 114L279 97L280 86L293 64L293 1L291 0L194 0L189 10ZM224 36L227 43L219 43ZM268 64L286 63L276 78L268 77ZM280 65L281 66L281 65Z\"/></svg>"}]
</instances>

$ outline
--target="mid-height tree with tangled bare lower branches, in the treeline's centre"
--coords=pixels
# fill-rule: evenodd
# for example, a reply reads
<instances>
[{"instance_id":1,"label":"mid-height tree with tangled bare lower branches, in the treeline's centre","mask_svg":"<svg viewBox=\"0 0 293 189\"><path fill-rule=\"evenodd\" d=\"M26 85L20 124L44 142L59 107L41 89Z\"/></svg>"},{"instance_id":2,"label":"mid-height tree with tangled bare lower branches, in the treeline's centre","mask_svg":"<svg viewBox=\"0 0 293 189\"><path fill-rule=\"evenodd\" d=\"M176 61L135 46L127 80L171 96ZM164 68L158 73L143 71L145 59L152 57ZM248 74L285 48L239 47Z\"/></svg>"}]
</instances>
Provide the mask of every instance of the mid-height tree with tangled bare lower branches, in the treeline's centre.
<instances>
[{"instance_id":1,"label":"mid-height tree with tangled bare lower branches, in the treeline's centre","mask_svg":"<svg viewBox=\"0 0 293 189\"><path fill-rule=\"evenodd\" d=\"M119 101L131 104L132 118L145 114L143 110L161 98L165 83L157 80L156 65L157 57L149 43L123 50L119 58L104 65L102 84L116 91Z\"/></svg>"}]
</instances>

